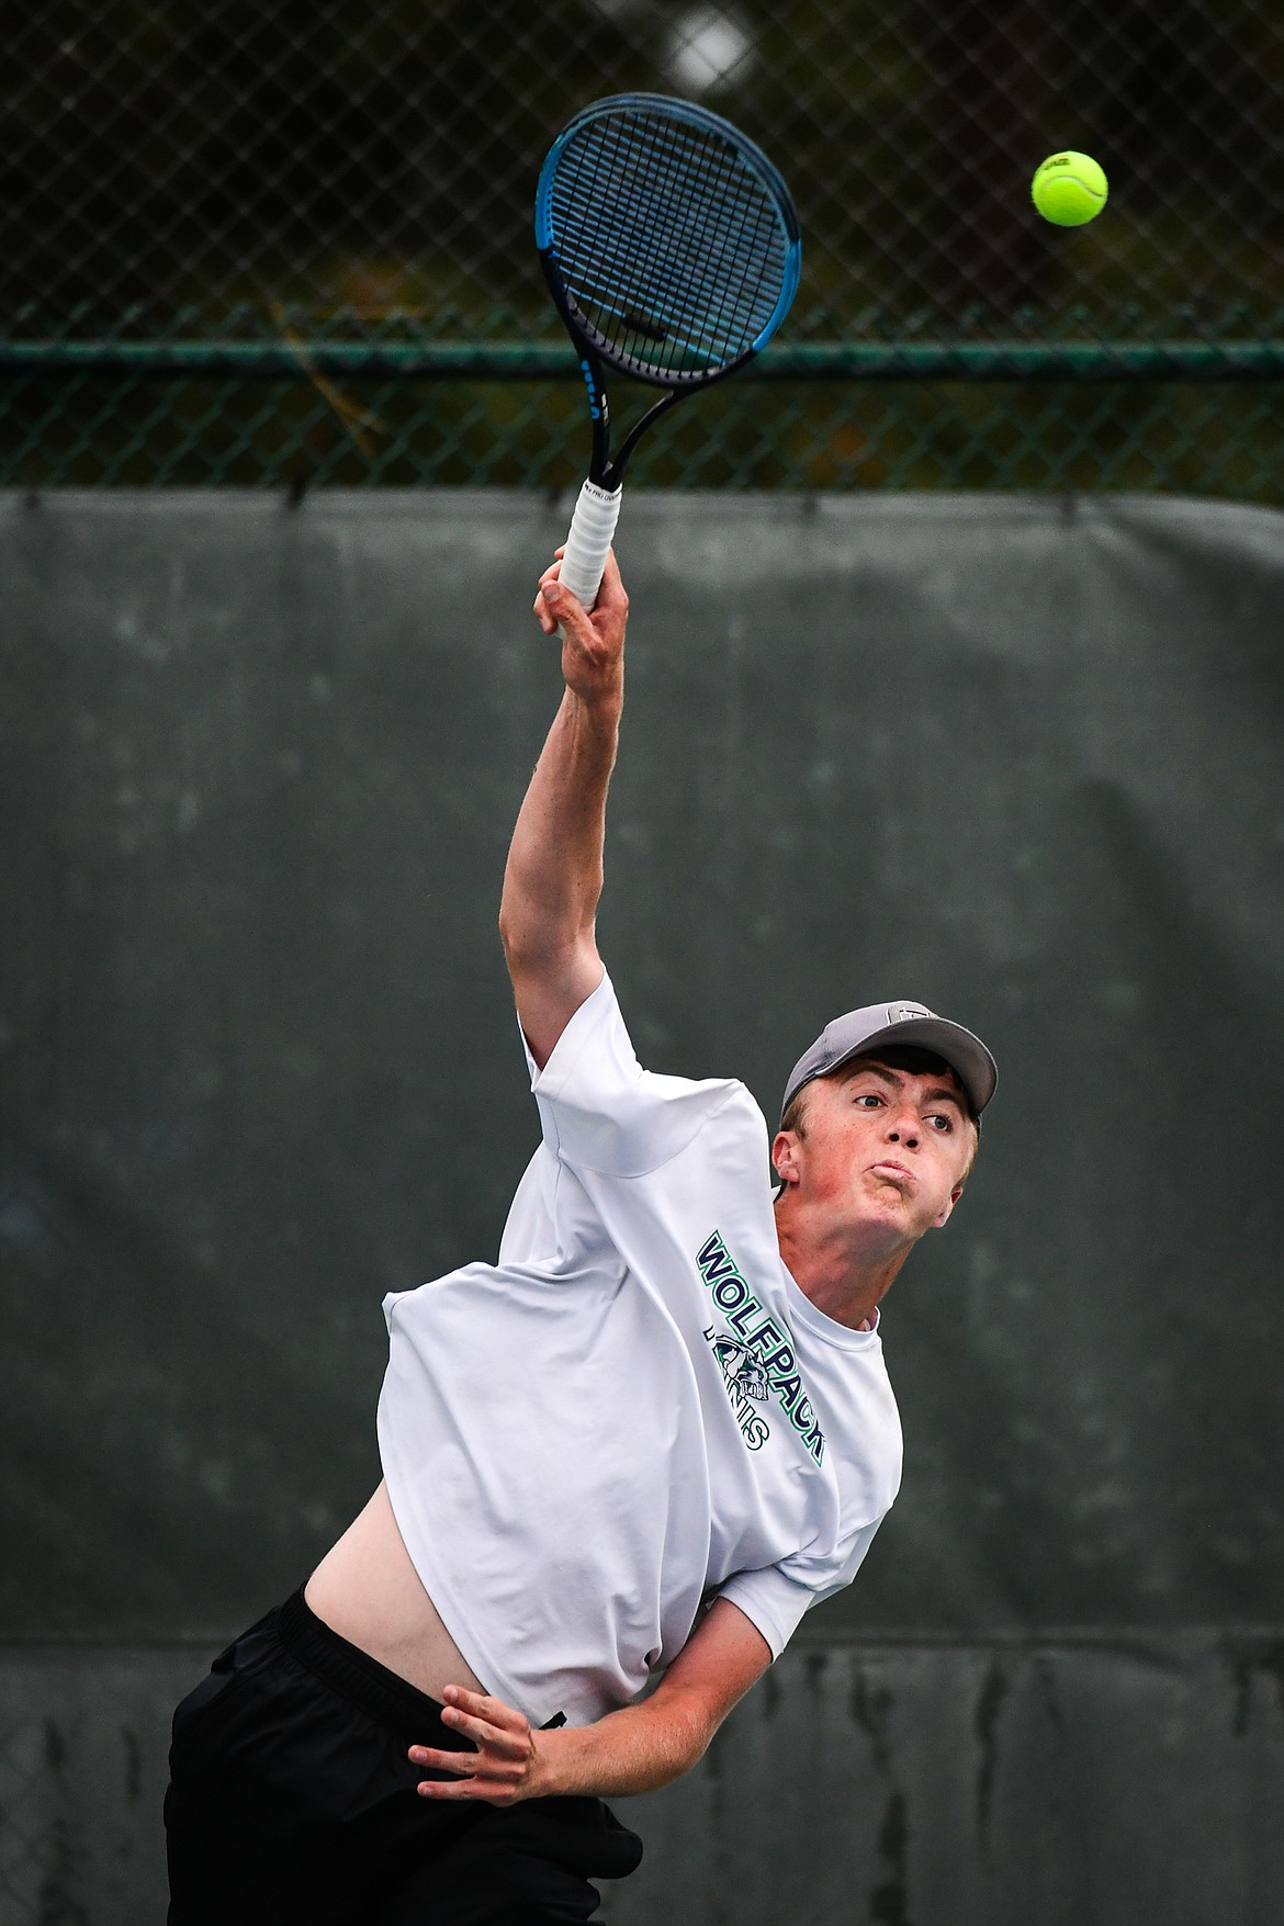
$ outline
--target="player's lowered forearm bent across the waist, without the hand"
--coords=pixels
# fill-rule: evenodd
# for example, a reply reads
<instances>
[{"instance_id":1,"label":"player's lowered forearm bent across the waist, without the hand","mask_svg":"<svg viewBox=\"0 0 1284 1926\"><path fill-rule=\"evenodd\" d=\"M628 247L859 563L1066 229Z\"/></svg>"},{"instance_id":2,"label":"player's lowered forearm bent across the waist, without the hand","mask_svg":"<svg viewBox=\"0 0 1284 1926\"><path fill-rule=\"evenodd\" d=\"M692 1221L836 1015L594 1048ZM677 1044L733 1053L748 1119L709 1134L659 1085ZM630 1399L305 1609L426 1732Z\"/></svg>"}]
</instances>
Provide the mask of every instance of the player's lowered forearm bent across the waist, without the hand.
<instances>
[{"instance_id":1,"label":"player's lowered forearm bent across the waist, without the hand","mask_svg":"<svg viewBox=\"0 0 1284 1926\"><path fill-rule=\"evenodd\" d=\"M647 1699L593 1726L541 1731L537 1789L597 1799L656 1791L705 1757L714 1730L716 1722L697 1703Z\"/></svg>"}]
</instances>

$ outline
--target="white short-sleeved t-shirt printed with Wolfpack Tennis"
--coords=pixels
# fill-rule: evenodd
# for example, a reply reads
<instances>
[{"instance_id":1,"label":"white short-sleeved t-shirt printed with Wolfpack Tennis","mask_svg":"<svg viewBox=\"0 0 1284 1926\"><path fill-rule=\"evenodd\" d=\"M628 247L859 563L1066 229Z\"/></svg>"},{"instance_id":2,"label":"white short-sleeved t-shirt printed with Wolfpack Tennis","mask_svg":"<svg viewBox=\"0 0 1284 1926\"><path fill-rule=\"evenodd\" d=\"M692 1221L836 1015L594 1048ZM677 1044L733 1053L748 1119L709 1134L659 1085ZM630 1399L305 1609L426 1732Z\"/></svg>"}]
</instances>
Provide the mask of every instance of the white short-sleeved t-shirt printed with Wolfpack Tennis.
<instances>
[{"instance_id":1,"label":"white short-sleeved t-shirt printed with Wolfpack Tennis","mask_svg":"<svg viewBox=\"0 0 1284 1926\"><path fill-rule=\"evenodd\" d=\"M782 1263L741 1082L643 1071L603 976L531 1086L499 1263L383 1300L379 1452L475 1676L576 1726L670 1664L708 1595L778 1656L855 1577L901 1425L878 1331Z\"/></svg>"}]
</instances>

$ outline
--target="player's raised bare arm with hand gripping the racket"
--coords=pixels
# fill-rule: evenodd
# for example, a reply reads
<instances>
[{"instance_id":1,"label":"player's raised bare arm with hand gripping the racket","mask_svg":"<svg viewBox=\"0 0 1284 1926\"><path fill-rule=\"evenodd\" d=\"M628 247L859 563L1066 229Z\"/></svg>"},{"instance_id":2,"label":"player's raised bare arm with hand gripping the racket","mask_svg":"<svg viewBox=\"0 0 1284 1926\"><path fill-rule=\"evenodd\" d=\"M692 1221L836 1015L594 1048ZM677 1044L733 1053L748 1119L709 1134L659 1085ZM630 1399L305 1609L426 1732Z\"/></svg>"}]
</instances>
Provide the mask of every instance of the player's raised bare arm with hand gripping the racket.
<instances>
[{"instance_id":1,"label":"player's raised bare arm with hand gripping the racket","mask_svg":"<svg viewBox=\"0 0 1284 1926\"><path fill-rule=\"evenodd\" d=\"M518 813L499 911L518 1017L541 1067L603 980L593 928L629 611L614 555L593 614L558 586L554 562L541 576L535 616L545 634L562 630L566 690Z\"/></svg>"}]
</instances>

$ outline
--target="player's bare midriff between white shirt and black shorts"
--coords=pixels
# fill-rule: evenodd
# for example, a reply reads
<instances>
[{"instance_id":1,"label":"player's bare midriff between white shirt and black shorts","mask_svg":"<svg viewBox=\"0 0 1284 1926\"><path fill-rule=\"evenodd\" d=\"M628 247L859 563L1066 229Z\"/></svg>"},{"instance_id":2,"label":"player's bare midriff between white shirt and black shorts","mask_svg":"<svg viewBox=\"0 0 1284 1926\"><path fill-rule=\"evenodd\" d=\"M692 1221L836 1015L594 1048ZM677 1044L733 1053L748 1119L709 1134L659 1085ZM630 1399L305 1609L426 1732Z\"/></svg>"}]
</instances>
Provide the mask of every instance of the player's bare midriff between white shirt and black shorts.
<instances>
[{"instance_id":1,"label":"player's bare midriff between white shirt and black shorts","mask_svg":"<svg viewBox=\"0 0 1284 1926\"><path fill-rule=\"evenodd\" d=\"M325 1552L304 1585L304 1599L341 1639L431 1699L441 1699L447 1685L485 1691L410 1564L387 1485L379 1485Z\"/></svg>"}]
</instances>

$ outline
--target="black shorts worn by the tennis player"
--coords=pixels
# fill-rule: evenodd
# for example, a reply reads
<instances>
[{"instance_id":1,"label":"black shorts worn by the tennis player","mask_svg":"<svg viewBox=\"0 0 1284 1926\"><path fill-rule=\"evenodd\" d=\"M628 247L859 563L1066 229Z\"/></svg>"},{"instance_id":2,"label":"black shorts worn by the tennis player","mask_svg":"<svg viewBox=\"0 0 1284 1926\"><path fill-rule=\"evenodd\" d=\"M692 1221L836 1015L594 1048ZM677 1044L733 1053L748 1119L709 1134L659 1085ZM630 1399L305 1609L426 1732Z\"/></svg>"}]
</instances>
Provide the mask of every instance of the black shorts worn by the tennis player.
<instances>
[{"instance_id":1,"label":"black shorts worn by the tennis player","mask_svg":"<svg viewBox=\"0 0 1284 1926\"><path fill-rule=\"evenodd\" d=\"M435 1699L348 1645L302 1591L241 1633L173 1714L169 1926L543 1926L641 1839L601 1799L441 1803L410 1745L468 1751Z\"/></svg>"}]
</instances>

